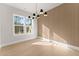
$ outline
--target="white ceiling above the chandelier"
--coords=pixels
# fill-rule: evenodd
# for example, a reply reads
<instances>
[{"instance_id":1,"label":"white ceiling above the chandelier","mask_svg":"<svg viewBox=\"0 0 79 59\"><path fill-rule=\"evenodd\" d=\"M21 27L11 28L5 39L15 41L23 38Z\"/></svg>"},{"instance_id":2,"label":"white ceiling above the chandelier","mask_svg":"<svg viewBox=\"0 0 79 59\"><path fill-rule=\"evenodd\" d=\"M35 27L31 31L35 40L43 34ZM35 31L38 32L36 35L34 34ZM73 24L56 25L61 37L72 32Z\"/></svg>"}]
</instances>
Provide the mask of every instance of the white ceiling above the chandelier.
<instances>
[{"instance_id":1,"label":"white ceiling above the chandelier","mask_svg":"<svg viewBox=\"0 0 79 59\"><path fill-rule=\"evenodd\" d=\"M48 11L50 9L55 8L56 6L61 5L61 3L6 3L6 4L31 13L36 12L36 5L38 11L40 9Z\"/></svg>"}]
</instances>

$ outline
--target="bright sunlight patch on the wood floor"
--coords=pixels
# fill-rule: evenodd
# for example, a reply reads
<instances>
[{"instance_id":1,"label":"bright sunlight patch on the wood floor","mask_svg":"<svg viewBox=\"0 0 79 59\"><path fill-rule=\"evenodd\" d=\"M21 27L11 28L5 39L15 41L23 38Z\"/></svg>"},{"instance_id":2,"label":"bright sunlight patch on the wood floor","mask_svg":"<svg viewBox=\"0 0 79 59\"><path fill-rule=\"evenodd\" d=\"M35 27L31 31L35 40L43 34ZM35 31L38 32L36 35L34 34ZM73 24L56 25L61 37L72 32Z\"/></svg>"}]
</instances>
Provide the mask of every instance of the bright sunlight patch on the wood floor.
<instances>
[{"instance_id":1,"label":"bright sunlight patch on the wood floor","mask_svg":"<svg viewBox=\"0 0 79 59\"><path fill-rule=\"evenodd\" d=\"M64 49L69 49L67 44L53 41L53 40L48 40L48 39L42 39L40 41L32 43L32 45L53 46L53 47L60 47L60 48L64 48Z\"/></svg>"}]
</instances>

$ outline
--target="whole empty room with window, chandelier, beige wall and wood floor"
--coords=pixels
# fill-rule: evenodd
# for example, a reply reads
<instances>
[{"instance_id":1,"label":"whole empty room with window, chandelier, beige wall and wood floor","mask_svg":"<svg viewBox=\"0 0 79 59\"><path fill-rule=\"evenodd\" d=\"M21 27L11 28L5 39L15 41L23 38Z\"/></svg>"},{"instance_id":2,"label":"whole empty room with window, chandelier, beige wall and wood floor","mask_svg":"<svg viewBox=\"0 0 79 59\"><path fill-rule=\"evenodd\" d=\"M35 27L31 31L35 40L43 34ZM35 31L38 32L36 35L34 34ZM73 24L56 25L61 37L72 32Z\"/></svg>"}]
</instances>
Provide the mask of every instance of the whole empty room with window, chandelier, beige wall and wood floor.
<instances>
[{"instance_id":1,"label":"whole empty room with window, chandelier, beige wall and wood floor","mask_svg":"<svg viewBox=\"0 0 79 59\"><path fill-rule=\"evenodd\" d=\"M0 3L0 56L79 56L79 3Z\"/></svg>"}]
</instances>

